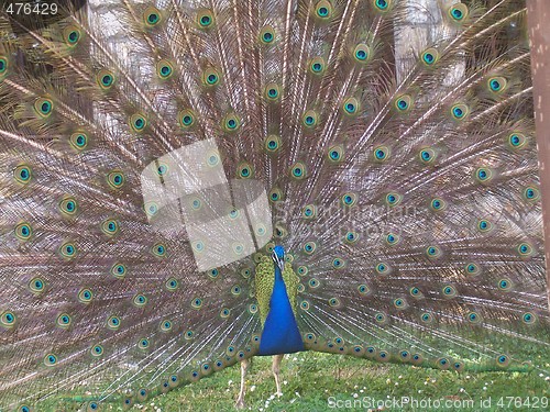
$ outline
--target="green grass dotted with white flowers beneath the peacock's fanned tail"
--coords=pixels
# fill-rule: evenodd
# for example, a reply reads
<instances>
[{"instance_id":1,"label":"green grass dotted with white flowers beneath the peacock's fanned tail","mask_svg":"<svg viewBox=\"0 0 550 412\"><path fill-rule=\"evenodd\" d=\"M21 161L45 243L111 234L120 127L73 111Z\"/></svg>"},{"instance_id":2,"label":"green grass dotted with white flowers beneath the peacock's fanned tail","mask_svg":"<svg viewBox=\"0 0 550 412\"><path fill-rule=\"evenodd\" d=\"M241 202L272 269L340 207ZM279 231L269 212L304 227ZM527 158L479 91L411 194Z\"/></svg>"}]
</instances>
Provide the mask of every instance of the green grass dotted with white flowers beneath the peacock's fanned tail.
<instances>
[{"instance_id":1,"label":"green grass dotted with white flowers beneath the peacock's fanned tail","mask_svg":"<svg viewBox=\"0 0 550 412\"><path fill-rule=\"evenodd\" d=\"M283 397L275 393L275 381L271 374L271 357L255 357L248 376L246 409L252 411L367 411L370 404L362 402L365 397L375 400L414 398L418 402L442 400L451 402L451 408L425 408L422 404L387 405L386 411L543 411L536 397L550 398L550 378L539 371L530 372L462 372L417 368L413 366L377 364L341 355L302 353L285 356L282 364ZM198 382L178 388L156 397L132 411L235 411L239 394L240 368L238 365L217 372ZM517 397L527 404L516 408L508 405L506 397ZM329 398L341 408L330 408ZM491 408L482 408L491 399ZM504 403L498 404L499 400ZM355 401L355 403L353 403ZM473 407L468 403L473 401ZM516 399L514 399L516 401ZM345 408L345 407L351 408ZM107 405L106 405L107 407ZM502 408L499 408L502 407ZM41 409L42 410L42 409ZM52 411L73 411L66 404L50 404ZM78 409L75 409L78 410ZM102 410L117 411L109 405Z\"/></svg>"}]
</instances>

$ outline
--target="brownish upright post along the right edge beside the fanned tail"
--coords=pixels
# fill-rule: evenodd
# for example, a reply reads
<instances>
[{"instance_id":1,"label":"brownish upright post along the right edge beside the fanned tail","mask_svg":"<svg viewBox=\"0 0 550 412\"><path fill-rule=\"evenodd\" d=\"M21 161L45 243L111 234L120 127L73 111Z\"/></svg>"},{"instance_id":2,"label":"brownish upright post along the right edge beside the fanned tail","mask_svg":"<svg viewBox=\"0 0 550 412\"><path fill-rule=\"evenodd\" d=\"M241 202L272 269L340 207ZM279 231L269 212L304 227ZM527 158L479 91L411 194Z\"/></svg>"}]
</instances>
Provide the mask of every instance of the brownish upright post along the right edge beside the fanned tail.
<instances>
[{"instance_id":1,"label":"brownish upright post along the right edge beside the fanned tail","mask_svg":"<svg viewBox=\"0 0 550 412\"><path fill-rule=\"evenodd\" d=\"M535 124L539 154L544 257L547 261L547 298L550 310L550 1L527 0L527 21L531 43Z\"/></svg>"}]
</instances>

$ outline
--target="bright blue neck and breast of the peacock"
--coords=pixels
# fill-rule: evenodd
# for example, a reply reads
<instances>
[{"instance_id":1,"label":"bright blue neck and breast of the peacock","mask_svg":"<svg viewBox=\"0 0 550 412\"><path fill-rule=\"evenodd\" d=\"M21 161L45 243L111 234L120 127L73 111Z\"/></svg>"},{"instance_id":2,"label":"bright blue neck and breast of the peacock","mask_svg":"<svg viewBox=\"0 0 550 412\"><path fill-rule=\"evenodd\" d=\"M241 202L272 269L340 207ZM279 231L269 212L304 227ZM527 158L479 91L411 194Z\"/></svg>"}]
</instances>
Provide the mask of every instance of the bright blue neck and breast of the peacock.
<instances>
[{"instance_id":1,"label":"bright blue neck and breast of the peacock","mask_svg":"<svg viewBox=\"0 0 550 412\"><path fill-rule=\"evenodd\" d=\"M275 285L257 355L292 354L300 350L304 350L304 342L286 293L283 276L275 265Z\"/></svg>"}]
</instances>

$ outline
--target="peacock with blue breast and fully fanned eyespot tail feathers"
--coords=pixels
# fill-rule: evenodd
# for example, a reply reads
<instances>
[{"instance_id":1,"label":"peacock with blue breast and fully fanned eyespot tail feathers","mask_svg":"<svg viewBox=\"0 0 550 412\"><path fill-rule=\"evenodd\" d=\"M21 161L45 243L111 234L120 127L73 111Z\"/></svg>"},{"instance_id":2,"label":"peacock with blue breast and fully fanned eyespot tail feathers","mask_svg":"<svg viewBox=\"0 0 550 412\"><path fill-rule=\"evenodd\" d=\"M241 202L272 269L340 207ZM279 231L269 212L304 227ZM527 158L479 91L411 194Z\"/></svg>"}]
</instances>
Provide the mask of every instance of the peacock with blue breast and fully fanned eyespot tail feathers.
<instances>
[{"instance_id":1,"label":"peacock with blue breast and fully fanned eyespot tail feathers","mask_svg":"<svg viewBox=\"0 0 550 412\"><path fill-rule=\"evenodd\" d=\"M233 365L242 407L302 350L548 374L524 1L4 3L0 410Z\"/></svg>"}]
</instances>

